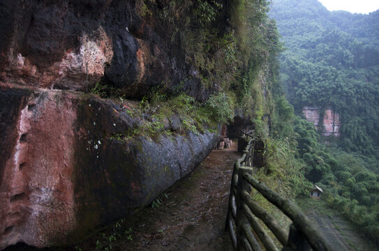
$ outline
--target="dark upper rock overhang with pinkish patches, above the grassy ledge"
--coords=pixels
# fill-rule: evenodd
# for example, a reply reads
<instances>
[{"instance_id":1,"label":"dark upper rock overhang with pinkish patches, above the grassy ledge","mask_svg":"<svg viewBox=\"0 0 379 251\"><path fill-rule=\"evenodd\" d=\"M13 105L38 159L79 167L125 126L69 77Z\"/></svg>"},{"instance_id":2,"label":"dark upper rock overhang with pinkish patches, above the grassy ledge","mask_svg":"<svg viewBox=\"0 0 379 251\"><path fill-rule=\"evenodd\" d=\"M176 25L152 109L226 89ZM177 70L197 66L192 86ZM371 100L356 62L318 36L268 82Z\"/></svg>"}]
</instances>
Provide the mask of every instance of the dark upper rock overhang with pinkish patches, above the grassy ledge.
<instances>
[{"instance_id":1,"label":"dark upper rock overhang with pinkish patches, above the grassy ledge","mask_svg":"<svg viewBox=\"0 0 379 251\"><path fill-rule=\"evenodd\" d=\"M204 100L208 91L167 24L140 17L135 4L1 1L0 82L82 91L101 81L131 98L162 82L168 89L181 82Z\"/></svg>"}]
</instances>

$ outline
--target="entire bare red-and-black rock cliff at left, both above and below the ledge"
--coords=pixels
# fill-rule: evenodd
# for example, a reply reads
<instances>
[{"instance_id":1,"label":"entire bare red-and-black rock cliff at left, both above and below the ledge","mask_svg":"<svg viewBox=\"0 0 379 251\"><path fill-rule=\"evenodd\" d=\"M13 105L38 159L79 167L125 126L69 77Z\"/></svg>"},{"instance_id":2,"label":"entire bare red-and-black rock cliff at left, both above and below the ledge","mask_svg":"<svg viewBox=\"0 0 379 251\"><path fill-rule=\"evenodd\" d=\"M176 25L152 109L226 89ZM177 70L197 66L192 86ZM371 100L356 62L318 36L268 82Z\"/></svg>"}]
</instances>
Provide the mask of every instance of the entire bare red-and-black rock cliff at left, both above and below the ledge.
<instances>
[{"instance_id":1,"label":"entire bare red-and-black rock cliff at left, both above and below the ledge","mask_svg":"<svg viewBox=\"0 0 379 251\"><path fill-rule=\"evenodd\" d=\"M77 241L149 204L213 149L209 132L119 140L143 121L80 92L101 81L138 98L187 79L203 99L160 29L134 1L1 1L0 250Z\"/></svg>"}]
</instances>

